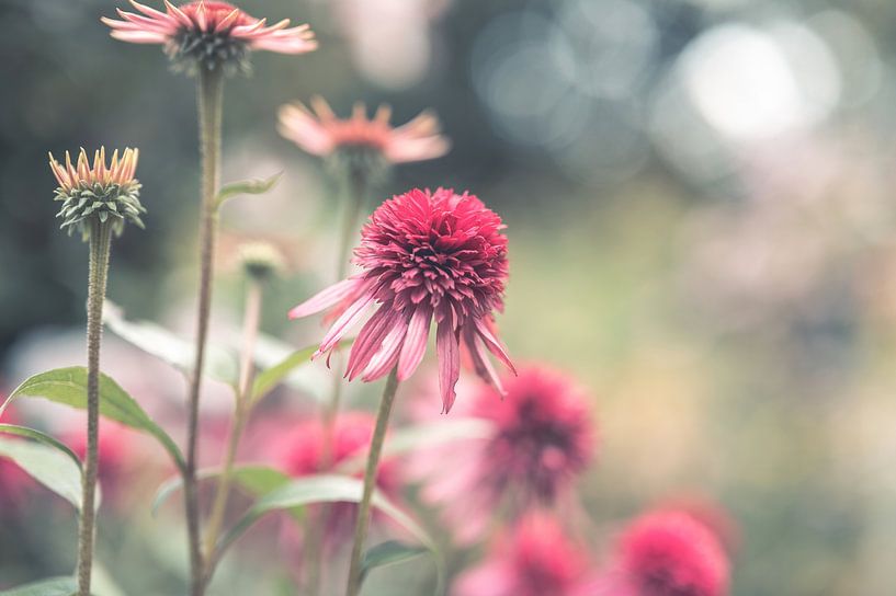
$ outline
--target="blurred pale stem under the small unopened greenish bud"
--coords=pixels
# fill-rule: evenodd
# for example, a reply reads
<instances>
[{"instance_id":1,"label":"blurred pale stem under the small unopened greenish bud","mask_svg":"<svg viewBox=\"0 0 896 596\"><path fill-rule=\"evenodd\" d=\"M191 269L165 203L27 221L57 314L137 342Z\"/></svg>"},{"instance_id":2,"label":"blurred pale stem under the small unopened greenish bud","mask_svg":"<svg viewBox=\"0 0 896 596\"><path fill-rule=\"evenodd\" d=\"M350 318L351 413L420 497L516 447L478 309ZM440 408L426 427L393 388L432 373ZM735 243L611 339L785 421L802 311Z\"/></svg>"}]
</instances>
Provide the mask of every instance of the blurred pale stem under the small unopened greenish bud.
<instances>
[{"instance_id":1,"label":"blurred pale stem under the small unopened greenish bud","mask_svg":"<svg viewBox=\"0 0 896 596\"><path fill-rule=\"evenodd\" d=\"M246 428L246 423L252 411L251 388L254 378L254 352L258 330L261 322L262 288L261 282L249 277L249 287L246 294L246 312L242 320L242 355L240 357L239 387L237 388L234 420L230 424L230 435L227 438L227 451L224 456L220 479L218 480L215 502L208 515L208 526L205 530L205 552L208 553L205 569L205 582L212 580L214 573L214 549L218 540L224 514L227 511L227 500L232 483L234 462L237 448Z\"/></svg>"}]
</instances>

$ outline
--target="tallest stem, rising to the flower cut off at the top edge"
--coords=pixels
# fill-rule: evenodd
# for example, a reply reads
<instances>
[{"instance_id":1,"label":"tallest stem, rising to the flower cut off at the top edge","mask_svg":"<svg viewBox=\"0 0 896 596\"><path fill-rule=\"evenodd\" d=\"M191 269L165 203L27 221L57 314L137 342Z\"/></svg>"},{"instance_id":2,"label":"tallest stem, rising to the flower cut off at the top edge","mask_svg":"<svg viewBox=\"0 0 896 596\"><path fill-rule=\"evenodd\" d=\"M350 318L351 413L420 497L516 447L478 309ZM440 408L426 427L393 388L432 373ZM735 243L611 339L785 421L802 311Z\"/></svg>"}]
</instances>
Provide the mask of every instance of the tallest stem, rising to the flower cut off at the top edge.
<instances>
[{"instance_id":1,"label":"tallest stem, rising to the flower cut off at the top edge","mask_svg":"<svg viewBox=\"0 0 896 596\"><path fill-rule=\"evenodd\" d=\"M199 409L205 343L208 336L208 317L212 307L212 282L217 232L215 195L220 181L220 122L224 99L224 73L220 69L200 69L199 119L200 153L202 156L202 214L200 216L200 296L196 322L196 358L190 380L186 427L186 467L183 474L184 508L190 548L190 593L205 593L204 569L200 546L200 507L196 494L196 443L199 438Z\"/></svg>"}]
</instances>

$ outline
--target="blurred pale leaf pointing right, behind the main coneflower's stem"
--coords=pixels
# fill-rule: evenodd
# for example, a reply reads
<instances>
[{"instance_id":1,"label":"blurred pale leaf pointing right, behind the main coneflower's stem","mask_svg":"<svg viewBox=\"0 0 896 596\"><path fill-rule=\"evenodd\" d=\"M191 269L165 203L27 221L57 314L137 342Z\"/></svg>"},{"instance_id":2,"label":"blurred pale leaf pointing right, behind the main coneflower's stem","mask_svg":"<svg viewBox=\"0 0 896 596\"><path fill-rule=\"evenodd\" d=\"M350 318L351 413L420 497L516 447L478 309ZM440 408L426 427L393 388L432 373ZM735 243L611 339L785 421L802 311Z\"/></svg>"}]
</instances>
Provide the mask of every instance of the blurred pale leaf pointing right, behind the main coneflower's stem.
<instances>
[{"instance_id":1,"label":"blurred pale leaf pointing right, behind the main coneflower's stem","mask_svg":"<svg viewBox=\"0 0 896 596\"><path fill-rule=\"evenodd\" d=\"M396 457L418 449L436 447L455 440L487 438L492 433L490 422L479 419L441 420L406 426L386 435L383 456ZM341 473L354 473L364 469L366 452L347 459L338 470Z\"/></svg>"}]
</instances>

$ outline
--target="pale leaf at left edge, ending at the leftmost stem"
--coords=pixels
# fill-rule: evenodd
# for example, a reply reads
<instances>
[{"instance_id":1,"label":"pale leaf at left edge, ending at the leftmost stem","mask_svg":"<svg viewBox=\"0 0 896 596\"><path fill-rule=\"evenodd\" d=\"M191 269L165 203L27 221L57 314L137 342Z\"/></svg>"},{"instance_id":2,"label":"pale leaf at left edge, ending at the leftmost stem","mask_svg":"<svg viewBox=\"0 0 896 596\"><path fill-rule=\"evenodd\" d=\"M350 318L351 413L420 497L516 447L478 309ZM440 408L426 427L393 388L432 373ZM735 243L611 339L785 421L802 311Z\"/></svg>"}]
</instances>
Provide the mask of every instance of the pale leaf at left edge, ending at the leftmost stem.
<instances>
[{"instance_id":1,"label":"pale leaf at left edge, ending at the leftmost stem","mask_svg":"<svg viewBox=\"0 0 896 596\"><path fill-rule=\"evenodd\" d=\"M81 509L81 468L56 447L0 437L0 457L18 463L37 482Z\"/></svg>"}]
</instances>

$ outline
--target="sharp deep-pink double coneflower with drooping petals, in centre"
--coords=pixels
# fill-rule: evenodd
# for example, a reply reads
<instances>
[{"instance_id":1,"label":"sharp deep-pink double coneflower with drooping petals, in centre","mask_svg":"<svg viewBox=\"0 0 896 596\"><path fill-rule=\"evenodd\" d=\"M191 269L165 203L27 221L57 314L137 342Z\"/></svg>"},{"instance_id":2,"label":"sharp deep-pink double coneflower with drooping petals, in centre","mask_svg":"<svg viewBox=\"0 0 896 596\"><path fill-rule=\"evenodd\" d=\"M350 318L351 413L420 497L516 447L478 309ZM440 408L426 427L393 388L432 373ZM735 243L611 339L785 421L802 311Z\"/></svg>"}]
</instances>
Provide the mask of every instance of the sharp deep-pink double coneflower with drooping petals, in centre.
<instances>
[{"instance_id":1,"label":"sharp deep-pink double coneflower with drooping petals, in centre","mask_svg":"<svg viewBox=\"0 0 896 596\"><path fill-rule=\"evenodd\" d=\"M461 342L476 371L500 387L486 348L513 370L492 312L503 309L507 237L501 218L474 195L413 190L381 205L361 232L355 263L365 271L298 305L296 319L340 305L340 317L315 356L332 351L373 303L378 309L351 348L345 376L373 381L397 367L413 374L435 319L443 411L455 399Z\"/></svg>"}]
</instances>

